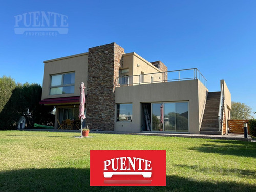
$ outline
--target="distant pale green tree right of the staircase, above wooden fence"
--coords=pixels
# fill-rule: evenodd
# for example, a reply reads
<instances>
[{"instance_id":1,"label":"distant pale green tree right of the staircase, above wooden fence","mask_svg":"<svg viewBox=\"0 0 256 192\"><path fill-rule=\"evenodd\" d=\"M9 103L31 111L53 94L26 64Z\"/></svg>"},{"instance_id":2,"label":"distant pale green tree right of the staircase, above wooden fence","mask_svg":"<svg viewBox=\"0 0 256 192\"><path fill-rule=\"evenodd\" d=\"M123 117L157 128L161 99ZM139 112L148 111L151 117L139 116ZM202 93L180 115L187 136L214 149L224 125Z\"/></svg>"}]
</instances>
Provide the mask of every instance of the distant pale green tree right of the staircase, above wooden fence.
<instances>
[{"instance_id":1,"label":"distant pale green tree right of the staircase, above wooden fence","mask_svg":"<svg viewBox=\"0 0 256 192\"><path fill-rule=\"evenodd\" d=\"M232 102L231 119L251 119L251 108L240 102Z\"/></svg>"}]
</instances>

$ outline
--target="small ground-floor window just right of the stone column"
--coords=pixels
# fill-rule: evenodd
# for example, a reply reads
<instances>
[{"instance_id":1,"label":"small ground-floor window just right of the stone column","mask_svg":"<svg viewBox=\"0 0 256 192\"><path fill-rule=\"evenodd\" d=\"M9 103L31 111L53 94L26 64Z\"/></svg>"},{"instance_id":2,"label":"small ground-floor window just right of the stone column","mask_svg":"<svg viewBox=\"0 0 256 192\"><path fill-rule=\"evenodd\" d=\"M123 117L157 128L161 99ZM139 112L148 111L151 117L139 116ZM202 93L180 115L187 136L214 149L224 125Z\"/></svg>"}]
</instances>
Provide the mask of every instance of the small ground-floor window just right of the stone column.
<instances>
[{"instance_id":1,"label":"small ground-floor window just right of the stone column","mask_svg":"<svg viewBox=\"0 0 256 192\"><path fill-rule=\"evenodd\" d=\"M117 104L117 121L133 121L133 105Z\"/></svg>"}]
</instances>

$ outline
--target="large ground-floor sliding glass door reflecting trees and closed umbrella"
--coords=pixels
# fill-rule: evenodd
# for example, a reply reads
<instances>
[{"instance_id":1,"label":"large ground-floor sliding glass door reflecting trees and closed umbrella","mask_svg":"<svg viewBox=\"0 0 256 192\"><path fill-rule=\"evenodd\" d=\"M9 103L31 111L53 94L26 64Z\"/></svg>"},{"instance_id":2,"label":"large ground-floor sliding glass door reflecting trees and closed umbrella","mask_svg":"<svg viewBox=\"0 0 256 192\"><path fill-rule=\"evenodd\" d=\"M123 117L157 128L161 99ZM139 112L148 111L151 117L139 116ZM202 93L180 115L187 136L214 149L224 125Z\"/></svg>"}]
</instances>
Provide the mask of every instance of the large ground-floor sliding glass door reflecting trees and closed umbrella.
<instances>
[{"instance_id":1,"label":"large ground-floor sliding glass door reflecting trees and closed umbrella","mask_svg":"<svg viewBox=\"0 0 256 192\"><path fill-rule=\"evenodd\" d=\"M153 103L152 131L188 132L188 102Z\"/></svg>"}]
</instances>

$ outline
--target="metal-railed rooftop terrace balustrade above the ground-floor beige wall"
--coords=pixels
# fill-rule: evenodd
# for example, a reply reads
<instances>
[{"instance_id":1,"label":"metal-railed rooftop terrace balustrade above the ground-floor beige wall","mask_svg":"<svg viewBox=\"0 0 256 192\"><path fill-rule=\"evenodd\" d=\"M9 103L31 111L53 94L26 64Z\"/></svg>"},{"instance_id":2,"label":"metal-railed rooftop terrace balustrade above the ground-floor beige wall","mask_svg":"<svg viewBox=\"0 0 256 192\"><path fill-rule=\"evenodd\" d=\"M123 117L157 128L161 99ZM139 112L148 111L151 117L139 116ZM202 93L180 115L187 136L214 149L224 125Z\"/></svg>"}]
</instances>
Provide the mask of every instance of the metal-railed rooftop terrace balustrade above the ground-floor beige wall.
<instances>
[{"instance_id":1,"label":"metal-railed rooftop terrace balustrade above the ground-floor beige wall","mask_svg":"<svg viewBox=\"0 0 256 192\"><path fill-rule=\"evenodd\" d=\"M136 86L140 84L163 83L171 81L200 80L207 87L207 80L197 68L181 69L159 73L117 77L115 86Z\"/></svg>"}]
</instances>

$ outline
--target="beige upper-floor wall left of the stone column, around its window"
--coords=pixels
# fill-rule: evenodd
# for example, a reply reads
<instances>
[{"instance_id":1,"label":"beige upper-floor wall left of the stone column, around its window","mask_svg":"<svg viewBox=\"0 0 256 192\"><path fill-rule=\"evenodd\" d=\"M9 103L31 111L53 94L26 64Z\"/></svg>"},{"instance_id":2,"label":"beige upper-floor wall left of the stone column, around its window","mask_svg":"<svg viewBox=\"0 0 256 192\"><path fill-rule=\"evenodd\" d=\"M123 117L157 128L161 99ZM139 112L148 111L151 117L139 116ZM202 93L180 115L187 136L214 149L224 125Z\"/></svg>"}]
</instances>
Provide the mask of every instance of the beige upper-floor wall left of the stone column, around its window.
<instances>
[{"instance_id":1,"label":"beige upper-floor wall left of the stone column, around its window","mask_svg":"<svg viewBox=\"0 0 256 192\"><path fill-rule=\"evenodd\" d=\"M79 96L80 83L87 87L88 53L44 61L44 80L42 82L42 99ZM75 72L75 91L72 94L50 95L51 75Z\"/></svg>"}]
</instances>

